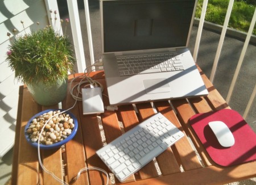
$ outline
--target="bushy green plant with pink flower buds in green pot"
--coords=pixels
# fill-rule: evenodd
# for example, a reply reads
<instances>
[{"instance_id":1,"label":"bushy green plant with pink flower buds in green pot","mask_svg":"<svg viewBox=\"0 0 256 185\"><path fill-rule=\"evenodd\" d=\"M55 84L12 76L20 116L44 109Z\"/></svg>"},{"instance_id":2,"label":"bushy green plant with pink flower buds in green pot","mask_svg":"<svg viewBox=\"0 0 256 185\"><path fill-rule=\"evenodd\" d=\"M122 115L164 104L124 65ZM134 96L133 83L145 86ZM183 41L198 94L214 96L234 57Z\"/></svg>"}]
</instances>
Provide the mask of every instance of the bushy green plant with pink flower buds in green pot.
<instances>
[{"instance_id":1,"label":"bushy green plant with pink flower buds in green pot","mask_svg":"<svg viewBox=\"0 0 256 185\"><path fill-rule=\"evenodd\" d=\"M54 13L56 23L56 11ZM71 41L51 26L25 32L23 36L13 31L14 39L7 33L11 45L6 61L15 71L15 78L27 85L37 103L50 106L61 102L67 93L68 72L72 72L76 62Z\"/></svg>"}]
</instances>

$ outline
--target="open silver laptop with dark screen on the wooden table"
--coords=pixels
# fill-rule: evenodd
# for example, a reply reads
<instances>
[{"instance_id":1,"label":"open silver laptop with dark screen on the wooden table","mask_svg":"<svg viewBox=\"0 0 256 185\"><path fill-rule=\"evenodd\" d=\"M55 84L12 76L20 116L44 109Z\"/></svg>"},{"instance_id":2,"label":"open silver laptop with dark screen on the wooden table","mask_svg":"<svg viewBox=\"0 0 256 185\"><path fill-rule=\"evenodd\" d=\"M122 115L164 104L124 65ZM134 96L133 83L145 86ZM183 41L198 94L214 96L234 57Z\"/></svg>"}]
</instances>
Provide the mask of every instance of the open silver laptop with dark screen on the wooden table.
<instances>
[{"instance_id":1,"label":"open silver laptop with dark screen on the wooden table","mask_svg":"<svg viewBox=\"0 0 256 185\"><path fill-rule=\"evenodd\" d=\"M207 95L189 52L196 0L101 0L112 105Z\"/></svg>"}]
</instances>

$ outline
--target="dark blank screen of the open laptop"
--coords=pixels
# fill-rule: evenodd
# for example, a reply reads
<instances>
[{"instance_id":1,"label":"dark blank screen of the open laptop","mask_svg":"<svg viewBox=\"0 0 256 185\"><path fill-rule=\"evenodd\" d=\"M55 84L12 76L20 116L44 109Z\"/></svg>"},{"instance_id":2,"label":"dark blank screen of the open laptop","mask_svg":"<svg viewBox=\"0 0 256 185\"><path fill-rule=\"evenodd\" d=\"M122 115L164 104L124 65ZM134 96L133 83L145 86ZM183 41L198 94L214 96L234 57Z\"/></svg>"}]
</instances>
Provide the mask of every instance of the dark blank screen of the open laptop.
<instances>
[{"instance_id":1,"label":"dark blank screen of the open laptop","mask_svg":"<svg viewBox=\"0 0 256 185\"><path fill-rule=\"evenodd\" d=\"M103 1L106 52L186 47L195 0Z\"/></svg>"}]
</instances>

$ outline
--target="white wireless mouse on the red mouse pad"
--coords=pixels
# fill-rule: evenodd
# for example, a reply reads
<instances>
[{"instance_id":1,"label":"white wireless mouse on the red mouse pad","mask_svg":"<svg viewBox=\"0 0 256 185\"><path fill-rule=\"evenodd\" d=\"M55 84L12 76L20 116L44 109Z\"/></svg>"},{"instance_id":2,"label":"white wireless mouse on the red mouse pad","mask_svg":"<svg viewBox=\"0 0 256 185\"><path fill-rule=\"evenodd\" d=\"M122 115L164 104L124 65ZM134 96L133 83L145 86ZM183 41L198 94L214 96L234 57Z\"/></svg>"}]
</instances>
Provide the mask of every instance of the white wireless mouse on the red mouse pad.
<instances>
[{"instance_id":1,"label":"white wireless mouse on the red mouse pad","mask_svg":"<svg viewBox=\"0 0 256 185\"><path fill-rule=\"evenodd\" d=\"M221 146L230 147L234 145L234 136L225 123L222 121L211 121L208 124Z\"/></svg>"}]
</instances>

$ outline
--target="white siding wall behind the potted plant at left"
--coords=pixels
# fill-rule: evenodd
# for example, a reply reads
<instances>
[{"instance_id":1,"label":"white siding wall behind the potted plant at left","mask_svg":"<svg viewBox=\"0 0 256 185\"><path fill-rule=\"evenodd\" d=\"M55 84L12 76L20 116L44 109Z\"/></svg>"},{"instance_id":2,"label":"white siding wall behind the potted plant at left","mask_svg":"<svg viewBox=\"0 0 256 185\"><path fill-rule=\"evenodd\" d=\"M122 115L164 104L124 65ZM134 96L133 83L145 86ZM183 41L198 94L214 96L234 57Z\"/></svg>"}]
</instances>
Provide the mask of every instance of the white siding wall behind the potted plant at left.
<instances>
[{"instance_id":1,"label":"white siding wall behind the potted plant at left","mask_svg":"<svg viewBox=\"0 0 256 185\"><path fill-rule=\"evenodd\" d=\"M48 1L50 3L48 3ZM57 10L56 0L2 0L0 1L0 158L14 145L18 93L20 82L5 61L10 45L7 32L14 39L13 28L24 34L20 20L24 22L26 33L43 28L48 22L48 10ZM53 16L53 15L52 15ZM39 22L39 26L36 24Z\"/></svg>"}]
</instances>

